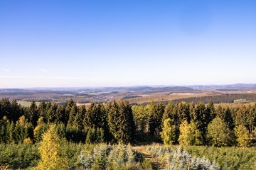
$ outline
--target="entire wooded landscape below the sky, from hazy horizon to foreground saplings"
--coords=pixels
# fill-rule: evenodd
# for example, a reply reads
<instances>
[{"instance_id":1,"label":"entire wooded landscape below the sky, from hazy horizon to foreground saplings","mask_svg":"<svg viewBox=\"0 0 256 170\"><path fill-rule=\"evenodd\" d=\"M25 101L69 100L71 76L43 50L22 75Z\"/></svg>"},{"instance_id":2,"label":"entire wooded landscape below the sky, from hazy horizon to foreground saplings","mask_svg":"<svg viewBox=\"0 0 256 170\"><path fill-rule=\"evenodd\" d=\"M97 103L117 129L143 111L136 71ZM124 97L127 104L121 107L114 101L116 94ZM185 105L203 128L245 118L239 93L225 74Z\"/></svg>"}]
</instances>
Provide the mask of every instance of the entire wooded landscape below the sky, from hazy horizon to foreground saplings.
<instances>
[{"instance_id":1,"label":"entire wooded landscape below the sky, from hazy horizon to foreground saplings","mask_svg":"<svg viewBox=\"0 0 256 170\"><path fill-rule=\"evenodd\" d=\"M255 84L1 89L0 98L3 169L255 168Z\"/></svg>"}]
</instances>

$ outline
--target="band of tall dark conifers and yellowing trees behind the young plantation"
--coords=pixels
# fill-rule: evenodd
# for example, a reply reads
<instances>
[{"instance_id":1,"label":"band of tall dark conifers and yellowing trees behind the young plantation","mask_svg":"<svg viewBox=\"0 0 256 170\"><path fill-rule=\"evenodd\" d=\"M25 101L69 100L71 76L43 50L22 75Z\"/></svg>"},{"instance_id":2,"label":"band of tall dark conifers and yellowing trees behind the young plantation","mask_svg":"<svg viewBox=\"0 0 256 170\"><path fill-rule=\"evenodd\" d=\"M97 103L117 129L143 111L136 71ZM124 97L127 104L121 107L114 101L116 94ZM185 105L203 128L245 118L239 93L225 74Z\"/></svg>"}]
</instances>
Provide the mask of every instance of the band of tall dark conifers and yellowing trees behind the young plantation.
<instances>
[{"instance_id":1,"label":"band of tall dark conifers and yellowing trees behind the young plantation","mask_svg":"<svg viewBox=\"0 0 256 170\"><path fill-rule=\"evenodd\" d=\"M256 104L218 106L205 103L151 102L131 106L127 101L77 106L41 101L29 107L0 101L0 142L36 143L51 123L70 142L161 142L168 145L249 147L255 140Z\"/></svg>"}]
</instances>

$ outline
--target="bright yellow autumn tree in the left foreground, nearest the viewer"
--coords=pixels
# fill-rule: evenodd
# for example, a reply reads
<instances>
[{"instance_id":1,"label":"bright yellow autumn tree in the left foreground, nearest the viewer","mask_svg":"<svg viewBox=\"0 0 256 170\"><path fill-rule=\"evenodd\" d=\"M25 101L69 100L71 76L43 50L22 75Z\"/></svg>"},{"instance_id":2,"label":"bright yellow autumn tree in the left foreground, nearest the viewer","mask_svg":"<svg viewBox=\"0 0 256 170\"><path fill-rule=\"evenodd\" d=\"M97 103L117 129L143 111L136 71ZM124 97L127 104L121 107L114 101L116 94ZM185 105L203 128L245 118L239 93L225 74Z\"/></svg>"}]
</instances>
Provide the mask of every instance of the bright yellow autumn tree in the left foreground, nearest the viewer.
<instances>
[{"instance_id":1,"label":"bright yellow autumn tree in the left foreground, nearest the viewer","mask_svg":"<svg viewBox=\"0 0 256 170\"><path fill-rule=\"evenodd\" d=\"M49 129L43 134L41 146L38 148L41 161L36 169L68 169L68 159L63 154L63 148L60 143L60 137L57 130L55 130L55 125L50 125Z\"/></svg>"}]
</instances>

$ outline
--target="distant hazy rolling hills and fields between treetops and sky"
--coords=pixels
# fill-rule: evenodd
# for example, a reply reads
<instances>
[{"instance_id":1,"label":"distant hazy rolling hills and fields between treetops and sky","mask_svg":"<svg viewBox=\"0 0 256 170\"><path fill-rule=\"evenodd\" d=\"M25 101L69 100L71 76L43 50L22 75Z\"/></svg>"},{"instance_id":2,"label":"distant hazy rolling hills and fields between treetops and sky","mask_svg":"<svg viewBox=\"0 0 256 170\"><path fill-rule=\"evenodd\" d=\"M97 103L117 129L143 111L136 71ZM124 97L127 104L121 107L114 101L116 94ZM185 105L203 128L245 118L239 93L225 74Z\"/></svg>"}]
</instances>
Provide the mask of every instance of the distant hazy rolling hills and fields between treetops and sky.
<instances>
[{"instance_id":1,"label":"distant hazy rolling hills and fields between treetops and sky","mask_svg":"<svg viewBox=\"0 0 256 170\"><path fill-rule=\"evenodd\" d=\"M66 103L69 99L78 105L110 103L114 100L129 101L132 104L151 101L253 103L256 101L255 94L256 84L0 89L0 98L16 99L22 106L30 105L31 101Z\"/></svg>"}]
</instances>

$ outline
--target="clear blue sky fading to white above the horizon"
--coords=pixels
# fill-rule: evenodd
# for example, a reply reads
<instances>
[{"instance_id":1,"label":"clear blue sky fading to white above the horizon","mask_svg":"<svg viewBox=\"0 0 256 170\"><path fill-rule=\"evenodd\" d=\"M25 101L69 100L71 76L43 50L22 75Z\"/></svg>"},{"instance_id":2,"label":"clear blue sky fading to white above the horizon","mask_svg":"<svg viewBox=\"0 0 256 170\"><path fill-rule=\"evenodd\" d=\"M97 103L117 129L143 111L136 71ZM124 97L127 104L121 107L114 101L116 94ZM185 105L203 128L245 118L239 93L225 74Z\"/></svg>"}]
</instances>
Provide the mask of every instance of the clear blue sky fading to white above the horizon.
<instances>
[{"instance_id":1,"label":"clear blue sky fading to white above the horizon","mask_svg":"<svg viewBox=\"0 0 256 170\"><path fill-rule=\"evenodd\" d=\"M255 0L0 1L0 88L256 83L255 65Z\"/></svg>"}]
</instances>

